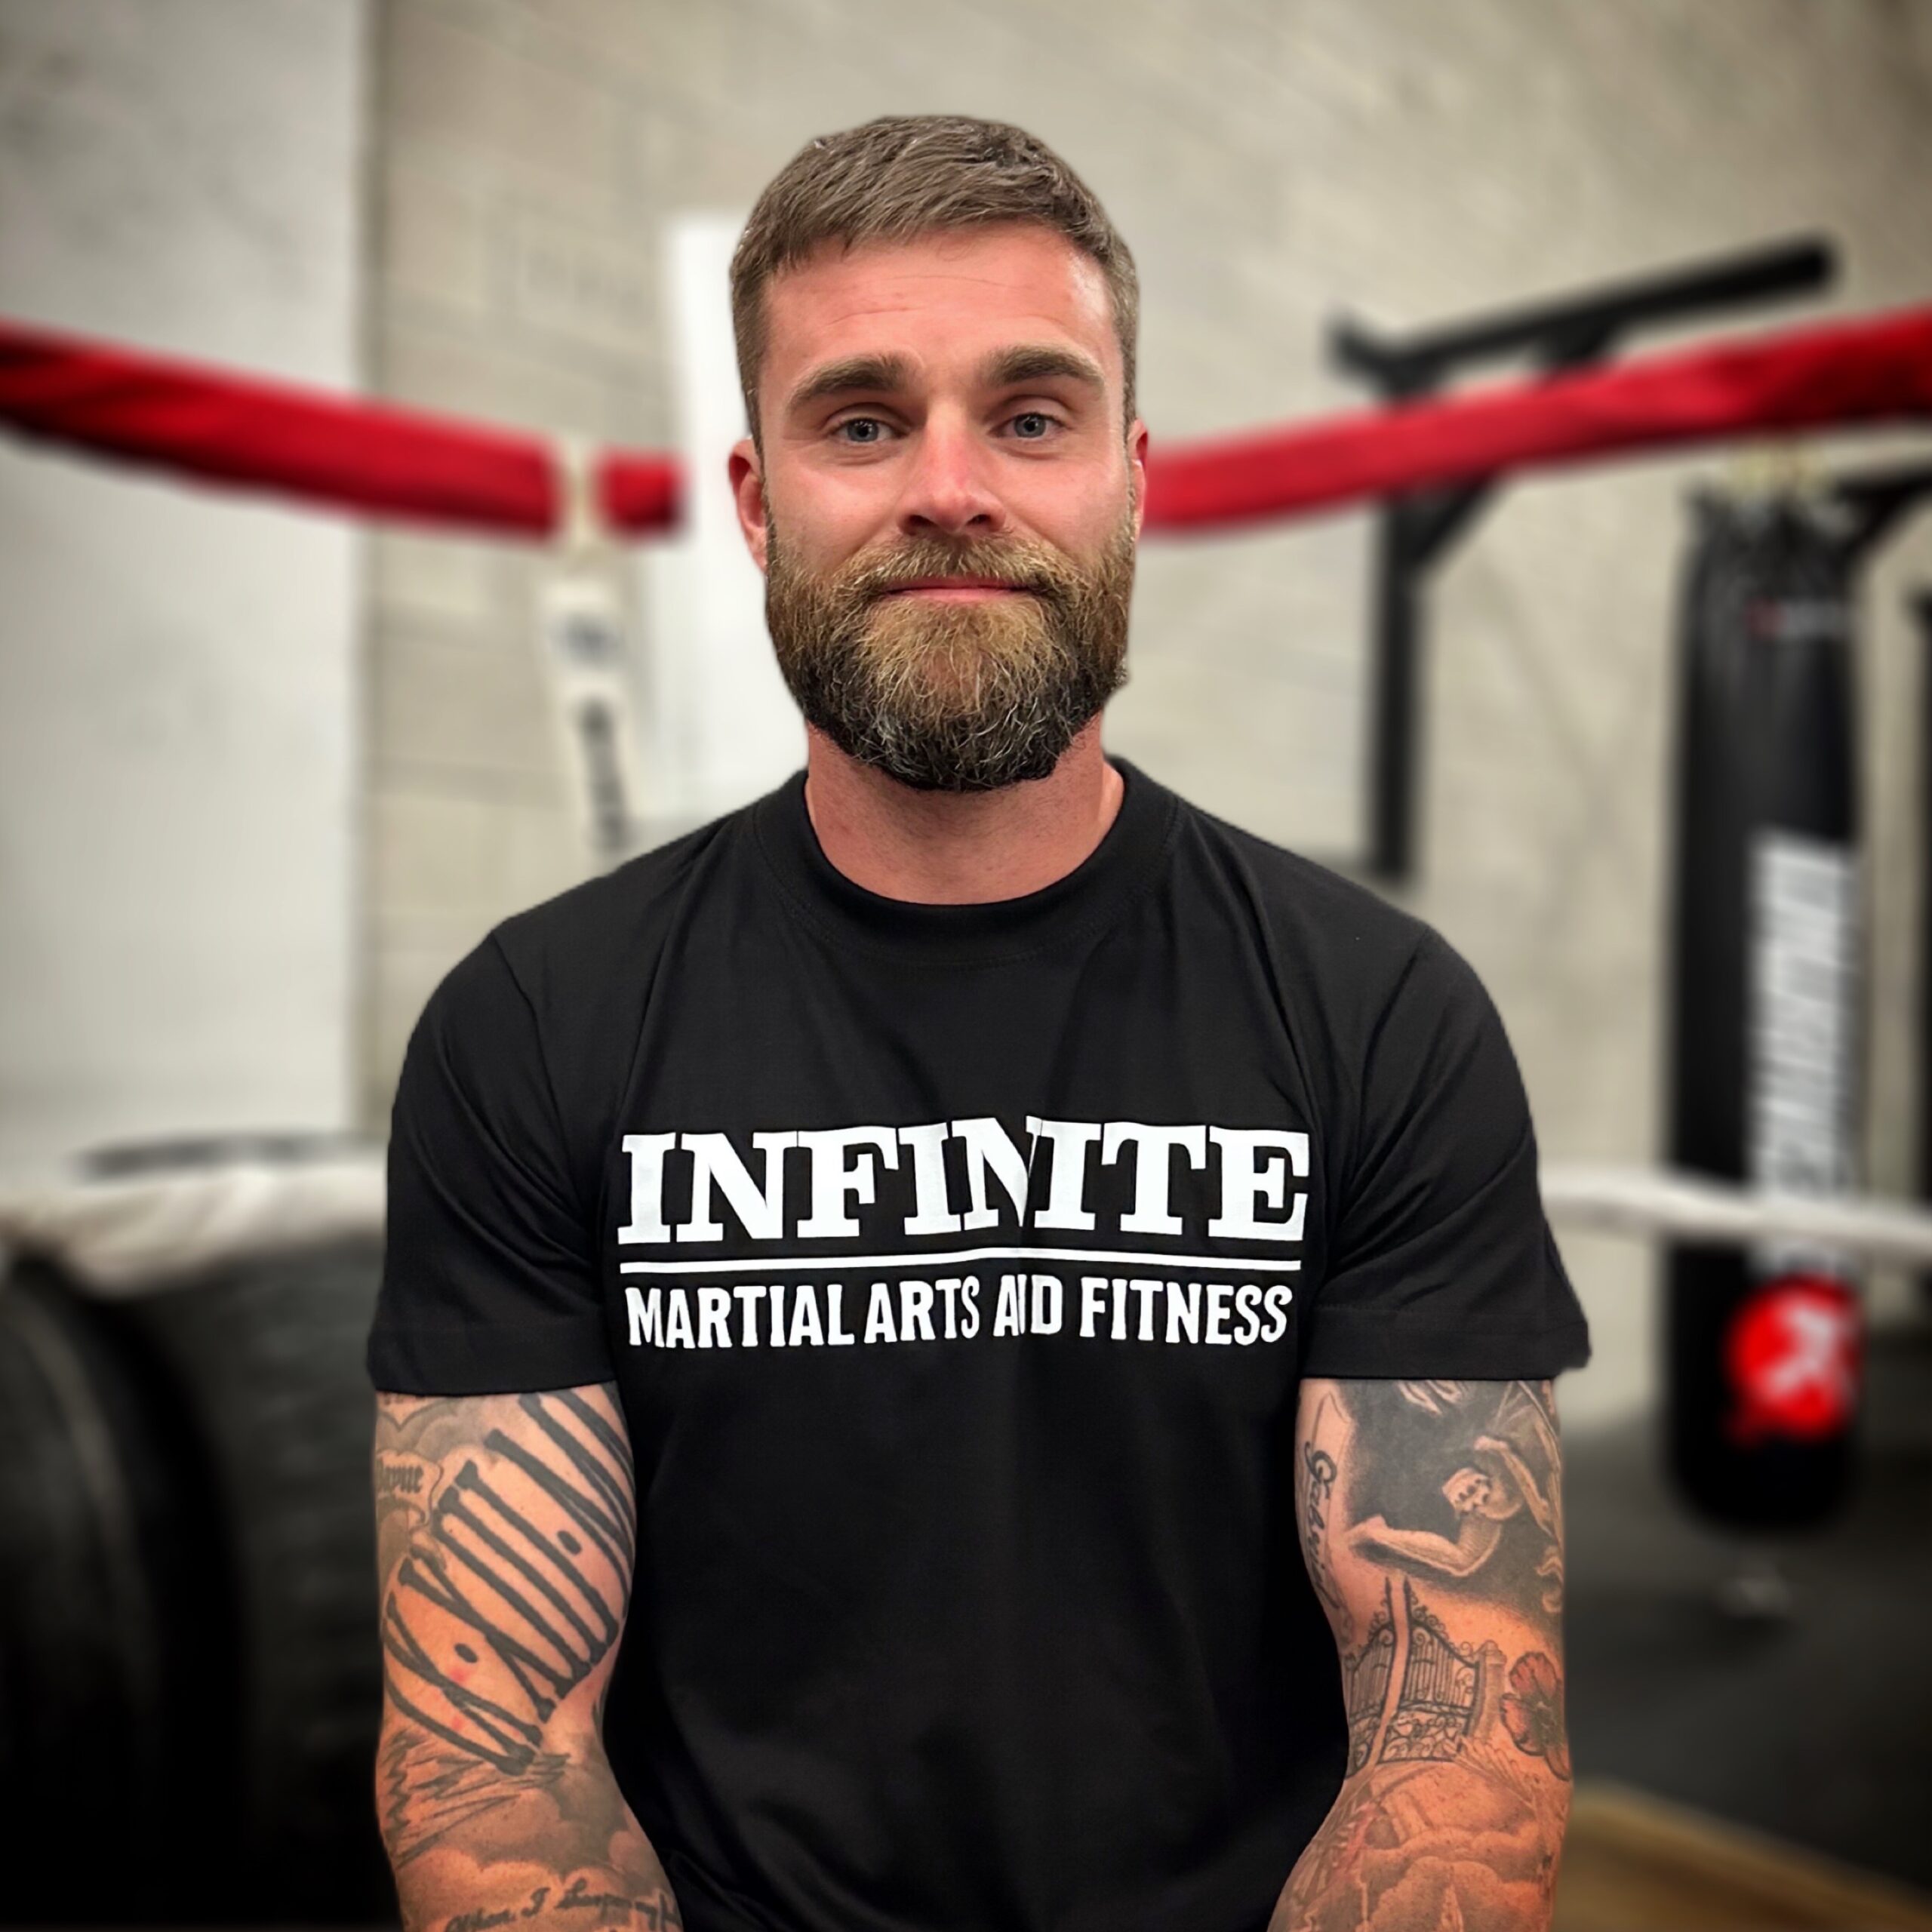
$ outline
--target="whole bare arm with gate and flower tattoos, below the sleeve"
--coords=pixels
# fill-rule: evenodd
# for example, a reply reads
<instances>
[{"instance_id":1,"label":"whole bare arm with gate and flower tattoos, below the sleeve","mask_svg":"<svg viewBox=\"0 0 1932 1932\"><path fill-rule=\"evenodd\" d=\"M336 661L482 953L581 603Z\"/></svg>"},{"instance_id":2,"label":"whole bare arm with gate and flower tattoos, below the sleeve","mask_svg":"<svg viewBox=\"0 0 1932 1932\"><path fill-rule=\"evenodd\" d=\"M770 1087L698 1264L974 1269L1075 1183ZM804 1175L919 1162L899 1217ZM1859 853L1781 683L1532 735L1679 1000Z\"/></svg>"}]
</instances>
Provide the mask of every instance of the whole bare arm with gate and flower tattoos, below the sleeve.
<instances>
[{"instance_id":1,"label":"whole bare arm with gate and flower tattoos, below the sleeve","mask_svg":"<svg viewBox=\"0 0 1932 1932\"><path fill-rule=\"evenodd\" d=\"M1269 1932L1546 1932L1571 1776L1549 1383L1306 1381L1294 1434L1349 1766Z\"/></svg>"}]
</instances>

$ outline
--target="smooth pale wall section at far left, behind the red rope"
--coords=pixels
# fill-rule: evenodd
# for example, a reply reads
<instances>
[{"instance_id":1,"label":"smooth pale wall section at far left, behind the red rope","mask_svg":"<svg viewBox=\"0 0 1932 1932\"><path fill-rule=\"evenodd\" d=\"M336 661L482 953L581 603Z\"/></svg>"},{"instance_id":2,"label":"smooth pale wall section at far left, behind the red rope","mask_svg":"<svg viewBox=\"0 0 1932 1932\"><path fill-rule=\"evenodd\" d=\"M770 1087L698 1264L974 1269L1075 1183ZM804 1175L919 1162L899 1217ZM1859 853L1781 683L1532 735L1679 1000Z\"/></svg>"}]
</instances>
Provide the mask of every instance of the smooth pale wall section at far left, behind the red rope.
<instances>
[{"instance_id":1,"label":"smooth pale wall section at far left, behind the red rope","mask_svg":"<svg viewBox=\"0 0 1932 1932\"><path fill-rule=\"evenodd\" d=\"M363 27L0 0L0 313L352 386ZM348 527L4 442L0 611L0 1163L348 1124Z\"/></svg>"}]
</instances>

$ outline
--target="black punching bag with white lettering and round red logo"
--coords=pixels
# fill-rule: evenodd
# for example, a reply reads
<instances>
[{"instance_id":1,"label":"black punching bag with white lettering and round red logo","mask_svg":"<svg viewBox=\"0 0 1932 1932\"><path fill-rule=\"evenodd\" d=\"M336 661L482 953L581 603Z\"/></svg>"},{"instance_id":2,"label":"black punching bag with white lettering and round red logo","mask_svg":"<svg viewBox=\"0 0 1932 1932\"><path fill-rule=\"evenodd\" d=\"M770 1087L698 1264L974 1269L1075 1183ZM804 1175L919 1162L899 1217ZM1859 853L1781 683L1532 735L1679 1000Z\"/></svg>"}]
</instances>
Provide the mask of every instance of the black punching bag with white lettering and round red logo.
<instances>
[{"instance_id":1,"label":"black punching bag with white lettering and round red logo","mask_svg":"<svg viewBox=\"0 0 1932 1932\"><path fill-rule=\"evenodd\" d=\"M1795 497L1696 500L1679 636L1669 1157L1787 1194L1855 1182L1861 1007L1853 545ZM1671 1470L1781 1530L1851 1476L1861 1306L1814 1244L1675 1248Z\"/></svg>"}]
</instances>

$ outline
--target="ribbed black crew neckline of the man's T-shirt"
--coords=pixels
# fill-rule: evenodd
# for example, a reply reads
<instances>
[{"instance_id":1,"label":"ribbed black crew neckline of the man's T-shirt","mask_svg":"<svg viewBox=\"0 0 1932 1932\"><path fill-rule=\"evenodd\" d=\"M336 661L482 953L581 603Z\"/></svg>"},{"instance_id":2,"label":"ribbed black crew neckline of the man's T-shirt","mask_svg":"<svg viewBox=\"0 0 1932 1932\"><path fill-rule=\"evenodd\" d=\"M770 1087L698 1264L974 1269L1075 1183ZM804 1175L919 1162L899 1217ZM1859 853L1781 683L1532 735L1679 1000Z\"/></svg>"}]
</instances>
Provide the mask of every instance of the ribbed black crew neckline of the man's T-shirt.
<instances>
[{"instance_id":1,"label":"ribbed black crew neckline of the man's T-shirt","mask_svg":"<svg viewBox=\"0 0 1932 1932\"><path fill-rule=\"evenodd\" d=\"M833 937L873 952L985 964L1072 943L1113 922L1151 879L1167 850L1179 800L1124 757L1121 810L1099 844L1065 877L966 906L889 898L848 879L819 844L806 810L806 775L792 773L752 808L752 829L779 887Z\"/></svg>"}]
</instances>

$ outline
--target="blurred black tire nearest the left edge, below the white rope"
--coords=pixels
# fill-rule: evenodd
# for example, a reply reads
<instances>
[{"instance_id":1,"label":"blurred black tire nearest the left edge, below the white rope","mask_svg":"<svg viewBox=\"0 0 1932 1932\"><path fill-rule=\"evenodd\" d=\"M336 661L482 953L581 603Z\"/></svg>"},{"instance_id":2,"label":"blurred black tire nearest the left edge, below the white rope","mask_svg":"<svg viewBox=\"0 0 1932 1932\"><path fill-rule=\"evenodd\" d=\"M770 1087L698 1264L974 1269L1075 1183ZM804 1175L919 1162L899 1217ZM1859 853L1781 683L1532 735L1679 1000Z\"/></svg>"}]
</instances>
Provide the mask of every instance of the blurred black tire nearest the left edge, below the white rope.
<instances>
[{"instance_id":1,"label":"blurred black tire nearest the left edge, below the white rope","mask_svg":"<svg viewBox=\"0 0 1932 1932\"><path fill-rule=\"evenodd\" d=\"M0 1281L0 1918L191 1911L232 1803L230 1592L193 1432L108 1310Z\"/></svg>"}]
</instances>

